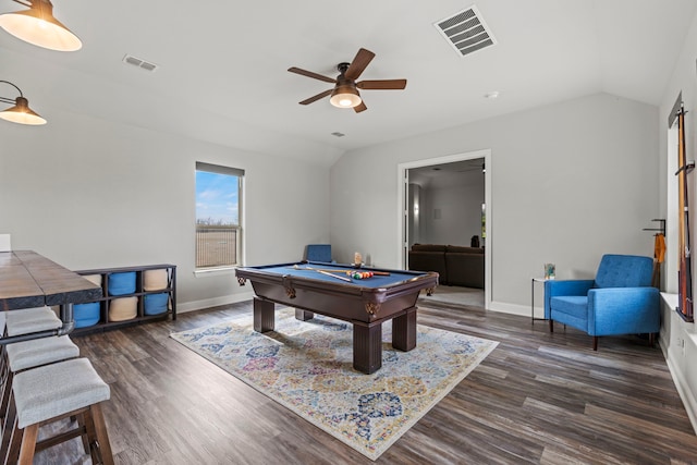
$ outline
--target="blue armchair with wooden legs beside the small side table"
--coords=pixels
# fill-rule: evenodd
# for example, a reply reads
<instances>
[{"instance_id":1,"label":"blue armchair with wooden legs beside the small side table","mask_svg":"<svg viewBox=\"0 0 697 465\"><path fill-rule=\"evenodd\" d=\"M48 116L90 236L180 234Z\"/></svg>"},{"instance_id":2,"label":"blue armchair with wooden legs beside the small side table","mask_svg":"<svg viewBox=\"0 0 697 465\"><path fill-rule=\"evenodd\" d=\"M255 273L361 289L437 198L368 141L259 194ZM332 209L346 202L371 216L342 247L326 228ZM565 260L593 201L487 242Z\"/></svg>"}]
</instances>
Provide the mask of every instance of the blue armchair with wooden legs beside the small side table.
<instances>
[{"instance_id":1,"label":"blue armchair with wooden legs beside the small side table","mask_svg":"<svg viewBox=\"0 0 697 465\"><path fill-rule=\"evenodd\" d=\"M659 290L651 286L653 259L604 255L595 280L545 282L545 318L598 336L648 333L651 346L661 328Z\"/></svg>"}]
</instances>

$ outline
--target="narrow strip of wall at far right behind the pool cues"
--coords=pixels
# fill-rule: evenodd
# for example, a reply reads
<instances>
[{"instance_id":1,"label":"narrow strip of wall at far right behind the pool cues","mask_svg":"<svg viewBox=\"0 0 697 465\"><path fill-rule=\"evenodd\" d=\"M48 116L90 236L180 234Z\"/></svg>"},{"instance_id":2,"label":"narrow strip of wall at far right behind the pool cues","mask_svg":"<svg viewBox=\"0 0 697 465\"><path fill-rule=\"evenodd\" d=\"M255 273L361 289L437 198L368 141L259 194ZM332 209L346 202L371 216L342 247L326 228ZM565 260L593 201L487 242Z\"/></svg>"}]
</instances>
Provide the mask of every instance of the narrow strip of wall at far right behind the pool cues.
<instances>
[{"instance_id":1,"label":"narrow strip of wall at far right behind the pool cues","mask_svg":"<svg viewBox=\"0 0 697 465\"><path fill-rule=\"evenodd\" d=\"M697 71L695 60L697 59L697 16L693 20L692 27L687 34L685 41L675 45L681 49L680 59L675 70L667 86L663 99L659 109L659 136L660 136L660 171L659 180L661 182L661 217L668 218L667 235L667 258L664 277L667 282L667 291L677 292L677 247L675 247L675 238L677 237L676 221L677 218L677 196L676 185L674 182L677 160L668 159L668 117L677 95L682 93L683 102L687 114L685 117L685 138L687 145L687 160L697 158ZM695 250L695 211L697 206L697 183L693 172L687 176L688 185L688 206L690 213L690 245ZM693 253L694 256L694 253ZM693 277L695 277L695 259L693 258ZM693 278L693 296L697 289L697 279ZM668 365L677 386L677 390L685 403L687 413L690 415L693 427L697 430L697 329L695 323L687 323L677 316L673 308L668 305L663 306L663 318L660 336L661 346Z\"/></svg>"}]
</instances>

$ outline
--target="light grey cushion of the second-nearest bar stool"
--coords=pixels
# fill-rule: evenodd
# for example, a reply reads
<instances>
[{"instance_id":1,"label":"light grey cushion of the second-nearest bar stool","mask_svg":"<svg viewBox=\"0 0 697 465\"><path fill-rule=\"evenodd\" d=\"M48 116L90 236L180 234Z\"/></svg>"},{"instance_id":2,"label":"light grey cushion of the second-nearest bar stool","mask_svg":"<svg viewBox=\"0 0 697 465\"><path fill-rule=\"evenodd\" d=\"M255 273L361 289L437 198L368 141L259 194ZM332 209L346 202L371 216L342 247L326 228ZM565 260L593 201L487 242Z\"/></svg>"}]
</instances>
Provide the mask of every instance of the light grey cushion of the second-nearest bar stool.
<instances>
[{"instance_id":1,"label":"light grey cushion of the second-nearest bar stool","mask_svg":"<svg viewBox=\"0 0 697 465\"><path fill-rule=\"evenodd\" d=\"M15 342L5 350L13 372L80 356L80 348L66 335Z\"/></svg>"}]
</instances>

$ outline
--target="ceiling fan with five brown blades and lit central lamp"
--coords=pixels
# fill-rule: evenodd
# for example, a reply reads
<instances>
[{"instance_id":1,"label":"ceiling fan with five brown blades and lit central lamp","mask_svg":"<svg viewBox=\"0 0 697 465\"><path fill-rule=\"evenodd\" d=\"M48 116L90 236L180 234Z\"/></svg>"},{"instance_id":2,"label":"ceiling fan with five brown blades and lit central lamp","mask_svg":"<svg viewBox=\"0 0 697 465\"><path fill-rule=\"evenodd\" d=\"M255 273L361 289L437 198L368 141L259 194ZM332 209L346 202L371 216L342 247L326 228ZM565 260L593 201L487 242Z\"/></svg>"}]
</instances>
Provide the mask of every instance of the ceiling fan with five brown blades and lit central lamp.
<instances>
[{"instance_id":1,"label":"ceiling fan with five brown blades and lit central lamp","mask_svg":"<svg viewBox=\"0 0 697 465\"><path fill-rule=\"evenodd\" d=\"M356 83L356 79L365 71L366 66L375 58L375 53L364 48L358 50L356 57L351 63L339 63L337 70L339 76L331 78L322 76L321 74L313 73L311 71L301 70L299 68L289 68L291 73L301 74L303 76L313 77L315 79L323 81L326 83L334 84L334 88L325 90L321 94L317 94L314 97L301 101L301 105L309 105L321 98L331 95L329 101L334 107L339 108L353 108L356 113L368 109L365 102L358 94L358 89L370 90L401 90L406 87L406 79L380 79L380 81L360 81Z\"/></svg>"}]
</instances>

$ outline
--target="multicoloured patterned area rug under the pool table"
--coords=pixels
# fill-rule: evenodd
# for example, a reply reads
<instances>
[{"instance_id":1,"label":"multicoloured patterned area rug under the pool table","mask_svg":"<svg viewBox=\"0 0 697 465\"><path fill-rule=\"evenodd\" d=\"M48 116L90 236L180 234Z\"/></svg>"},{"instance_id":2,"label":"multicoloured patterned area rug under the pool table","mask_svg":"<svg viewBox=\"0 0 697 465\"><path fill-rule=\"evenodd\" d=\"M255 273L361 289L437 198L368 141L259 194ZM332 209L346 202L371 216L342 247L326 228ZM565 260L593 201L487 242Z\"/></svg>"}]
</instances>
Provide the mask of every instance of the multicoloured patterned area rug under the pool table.
<instances>
[{"instance_id":1,"label":"multicoloured patterned area rug under the pool table","mask_svg":"<svg viewBox=\"0 0 697 465\"><path fill-rule=\"evenodd\" d=\"M353 368L347 322L276 313L276 331L257 333L252 316L170 334L197 354L371 460L450 392L498 342L418 325L417 345L394 351L382 327L382 368Z\"/></svg>"}]
</instances>

